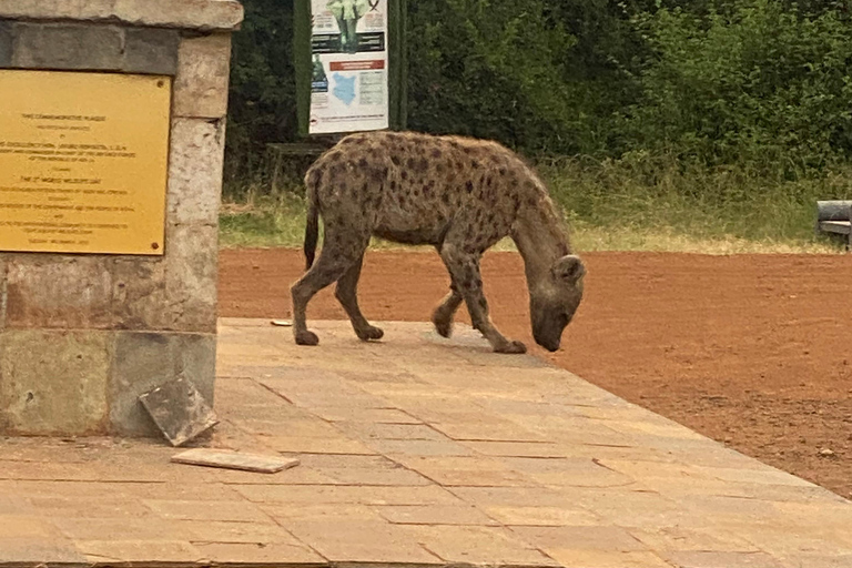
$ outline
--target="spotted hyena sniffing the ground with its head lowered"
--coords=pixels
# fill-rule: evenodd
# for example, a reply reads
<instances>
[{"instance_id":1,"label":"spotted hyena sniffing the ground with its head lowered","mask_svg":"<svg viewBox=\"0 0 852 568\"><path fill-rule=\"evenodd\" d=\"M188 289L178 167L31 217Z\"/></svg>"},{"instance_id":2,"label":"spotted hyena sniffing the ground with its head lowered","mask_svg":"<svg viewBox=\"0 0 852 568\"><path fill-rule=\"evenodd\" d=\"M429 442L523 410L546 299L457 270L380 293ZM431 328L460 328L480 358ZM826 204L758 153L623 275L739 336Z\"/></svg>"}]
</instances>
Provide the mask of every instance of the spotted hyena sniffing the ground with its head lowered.
<instances>
[{"instance_id":1,"label":"spotted hyena sniffing the ground with its head lowered","mask_svg":"<svg viewBox=\"0 0 852 568\"><path fill-rule=\"evenodd\" d=\"M336 296L364 341L382 329L361 313L357 284L371 236L437 248L449 271L450 292L435 310L438 333L449 336L464 301L470 318L498 353L524 353L488 316L479 258L505 236L526 266L532 333L549 351L582 297L585 267L571 254L545 184L517 154L495 142L412 132L352 134L314 163L305 176L308 213L307 273L293 294L293 332L300 345L316 345L305 312L310 300L336 282ZM318 217L325 241L316 252Z\"/></svg>"}]
</instances>

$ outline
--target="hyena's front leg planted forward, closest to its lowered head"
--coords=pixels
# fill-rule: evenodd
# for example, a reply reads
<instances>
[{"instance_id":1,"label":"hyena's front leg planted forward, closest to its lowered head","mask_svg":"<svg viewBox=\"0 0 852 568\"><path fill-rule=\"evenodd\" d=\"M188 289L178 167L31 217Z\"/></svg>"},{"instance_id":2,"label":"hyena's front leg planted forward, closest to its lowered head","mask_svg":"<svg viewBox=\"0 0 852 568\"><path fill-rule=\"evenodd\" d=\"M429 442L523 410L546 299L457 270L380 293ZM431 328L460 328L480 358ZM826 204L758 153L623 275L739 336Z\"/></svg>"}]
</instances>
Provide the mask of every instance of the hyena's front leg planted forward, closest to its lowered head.
<instances>
[{"instance_id":1,"label":"hyena's front leg planted forward, closest to its lowered head","mask_svg":"<svg viewBox=\"0 0 852 568\"><path fill-rule=\"evenodd\" d=\"M488 302L479 272L480 256L481 253L465 252L464 247L447 241L440 250L440 257L467 304L474 327L481 332L496 353L526 353L527 347L523 343L504 337L488 316Z\"/></svg>"}]
</instances>

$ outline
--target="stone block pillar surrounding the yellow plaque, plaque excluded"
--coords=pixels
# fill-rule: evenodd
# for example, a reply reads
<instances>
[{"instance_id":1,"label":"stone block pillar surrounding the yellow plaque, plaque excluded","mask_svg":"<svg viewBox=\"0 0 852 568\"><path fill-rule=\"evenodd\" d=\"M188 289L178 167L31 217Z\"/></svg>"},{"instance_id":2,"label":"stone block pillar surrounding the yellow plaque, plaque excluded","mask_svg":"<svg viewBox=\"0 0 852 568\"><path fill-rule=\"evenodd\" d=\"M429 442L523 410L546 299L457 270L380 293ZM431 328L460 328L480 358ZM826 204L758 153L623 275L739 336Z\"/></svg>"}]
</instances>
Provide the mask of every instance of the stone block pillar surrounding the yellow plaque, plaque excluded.
<instances>
[{"instance_id":1,"label":"stone block pillar surrounding the yellow plaque, plaque excluded","mask_svg":"<svg viewBox=\"0 0 852 568\"><path fill-rule=\"evenodd\" d=\"M231 33L242 18L235 0L0 0L0 70L173 79L160 255L0 242L0 434L154 435L138 396L176 376L212 404Z\"/></svg>"}]
</instances>

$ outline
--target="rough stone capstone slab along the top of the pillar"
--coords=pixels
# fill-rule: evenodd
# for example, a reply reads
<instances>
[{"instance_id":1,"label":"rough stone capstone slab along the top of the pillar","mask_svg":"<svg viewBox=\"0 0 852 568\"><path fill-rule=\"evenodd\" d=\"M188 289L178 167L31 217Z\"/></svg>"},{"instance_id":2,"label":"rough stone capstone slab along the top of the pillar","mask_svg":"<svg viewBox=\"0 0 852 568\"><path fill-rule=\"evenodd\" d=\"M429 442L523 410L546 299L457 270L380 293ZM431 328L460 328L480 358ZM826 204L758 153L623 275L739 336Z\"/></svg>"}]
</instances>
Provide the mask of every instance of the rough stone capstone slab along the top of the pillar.
<instances>
[{"instance_id":1,"label":"rough stone capstone slab along the top of the pillar","mask_svg":"<svg viewBox=\"0 0 852 568\"><path fill-rule=\"evenodd\" d=\"M243 21L243 7L236 0L0 0L0 18L235 30Z\"/></svg>"}]
</instances>

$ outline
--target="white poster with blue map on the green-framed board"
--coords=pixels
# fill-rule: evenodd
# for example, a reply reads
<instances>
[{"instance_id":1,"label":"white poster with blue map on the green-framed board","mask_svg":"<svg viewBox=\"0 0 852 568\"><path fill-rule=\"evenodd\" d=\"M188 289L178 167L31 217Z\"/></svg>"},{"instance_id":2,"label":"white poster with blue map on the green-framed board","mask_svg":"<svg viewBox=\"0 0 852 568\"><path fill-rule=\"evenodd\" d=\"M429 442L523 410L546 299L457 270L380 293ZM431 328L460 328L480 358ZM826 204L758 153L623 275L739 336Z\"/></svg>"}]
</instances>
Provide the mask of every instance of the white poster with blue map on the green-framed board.
<instances>
[{"instance_id":1,"label":"white poster with blue map on the green-framed board","mask_svg":"<svg viewBox=\"0 0 852 568\"><path fill-rule=\"evenodd\" d=\"M388 128L387 0L311 0L311 134Z\"/></svg>"}]
</instances>

